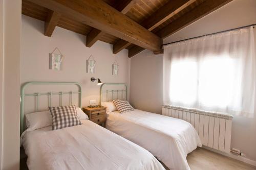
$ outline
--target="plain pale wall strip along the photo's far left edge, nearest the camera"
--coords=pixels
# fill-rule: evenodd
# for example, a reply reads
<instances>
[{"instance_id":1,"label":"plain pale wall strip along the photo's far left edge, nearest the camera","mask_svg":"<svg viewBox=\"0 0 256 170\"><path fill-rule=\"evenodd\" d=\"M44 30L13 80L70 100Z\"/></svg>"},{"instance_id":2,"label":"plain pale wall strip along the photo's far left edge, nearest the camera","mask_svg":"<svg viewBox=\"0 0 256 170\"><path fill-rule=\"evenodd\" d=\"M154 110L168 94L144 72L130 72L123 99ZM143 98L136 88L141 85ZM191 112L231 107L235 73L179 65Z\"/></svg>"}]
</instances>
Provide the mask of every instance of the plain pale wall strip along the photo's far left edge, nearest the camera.
<instances>
[{"instance_id":1,"label":"plain pale wall strip along the photo's far left edge, nearest the camera","mask_svg":"<svg viewBox=\"0 0 256 170\"><path fill-rule=\"evenodd\" d=\"M2 6L3 5L3 6ZM2 169L19 169L19 92L20 92L20 38L21 0L2 0L1 14L4 15L4 48L0 47L0 73L3 75L3 145ZM3 8L4 7L4 8ZM2 10L4 9L4 13ZM1 19L0 19L1 22ZM0 26L2 26L3 22ZM2 39L2 40L1 40ZM0 36L3 41L3 37ZM0 43L2 46L2 43ZM4 60L2 60L4 59ZM4 69L1 62L4 61ZM2 78L2 76L0 76ZM3 89L2 89L3 87ZM2 95L2 93L0 93ZM1 101L1 100L0 100Z\"/></svg>"}]
</instances>

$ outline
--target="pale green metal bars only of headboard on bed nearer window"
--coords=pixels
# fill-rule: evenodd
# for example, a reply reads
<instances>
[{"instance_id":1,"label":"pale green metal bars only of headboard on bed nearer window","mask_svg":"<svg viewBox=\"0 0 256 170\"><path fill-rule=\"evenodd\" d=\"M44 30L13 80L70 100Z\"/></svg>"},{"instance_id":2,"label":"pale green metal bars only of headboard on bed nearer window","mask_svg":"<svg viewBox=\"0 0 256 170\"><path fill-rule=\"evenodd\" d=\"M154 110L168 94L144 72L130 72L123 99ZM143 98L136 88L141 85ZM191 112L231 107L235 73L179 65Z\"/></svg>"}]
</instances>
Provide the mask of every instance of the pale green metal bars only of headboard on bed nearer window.
<instances>
[{"instance_id":1,"label":"pale green metal bars only of headboard on bed nearer window","mask_svg":"<svg viewBox=\"0 0 256 170\"><path fill-rule=\"evenodd\" d=\"M111 85L111 86L124 86L125 87L125 90L116 90L116 89L111 89L111 90L103 90L103 87L104 86L107 86L107 85ZM114 100L113 96L114 96L114 93L116 93L116 97L119 98L119 93L121 94L121 98L119 99L125 99L127 100L127 85L124 84L124 83L103 83L101 86L100 86L100 101L99 101L99 104L101 104L101 102L105 102L105 101L102 101L103 99L103 95L104 93L106 93L106 100L108 101L108 94L111 93L111 101ZM123 94L125 94L125 97L123 96ZM117 99L116 98L116 99Z\"/></svg>"}]
</instances>

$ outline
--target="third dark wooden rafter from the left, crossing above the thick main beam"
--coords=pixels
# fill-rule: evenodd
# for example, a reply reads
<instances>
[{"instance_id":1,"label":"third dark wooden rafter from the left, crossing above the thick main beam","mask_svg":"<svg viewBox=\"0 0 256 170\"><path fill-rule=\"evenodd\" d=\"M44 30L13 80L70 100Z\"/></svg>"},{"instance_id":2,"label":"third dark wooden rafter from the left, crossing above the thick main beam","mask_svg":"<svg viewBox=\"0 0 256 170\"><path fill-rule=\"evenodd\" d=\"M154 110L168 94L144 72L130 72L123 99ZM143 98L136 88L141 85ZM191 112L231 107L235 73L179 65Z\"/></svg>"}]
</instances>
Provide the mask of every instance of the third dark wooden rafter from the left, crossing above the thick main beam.
<instances>
[{"instance_id":1,"label":"third dark wooden rafter from the left, crossing above the thick main beam","mask_svg":"<svg viewBox=\"0 0 256 170\"><path fill-rule=\"evenodd\" d=\"M147 17L144 21L142 21L141 26L146 28L148 31L152 31L167 19L173 17L175 14L179 13L181 10L194 3L195 1L196 0L170 0L150 17ZM113 53L117 54L130 44L130 42L124 40L117 41L113 45Z\"/></svg>"}]
</instances>

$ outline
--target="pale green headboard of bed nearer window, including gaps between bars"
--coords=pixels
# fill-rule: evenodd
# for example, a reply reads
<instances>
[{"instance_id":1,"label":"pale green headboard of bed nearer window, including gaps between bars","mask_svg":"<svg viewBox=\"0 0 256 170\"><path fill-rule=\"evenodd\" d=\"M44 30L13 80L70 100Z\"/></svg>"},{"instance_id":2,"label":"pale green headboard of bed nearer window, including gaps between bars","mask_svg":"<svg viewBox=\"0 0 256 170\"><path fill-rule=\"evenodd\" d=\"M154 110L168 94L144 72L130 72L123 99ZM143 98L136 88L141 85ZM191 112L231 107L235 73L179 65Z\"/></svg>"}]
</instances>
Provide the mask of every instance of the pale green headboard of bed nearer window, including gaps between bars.
<instances>
[{"instance_id":1,"label":"pale green headboard of bed nearer window, including gaps between bars","mask_svg":"<svg viewBox=\"0 0 256 170\"><path fill-rule=\"evenodd\" d=\"M127 100L127 85L124 83L103 83L100 86L99 104L115 99Z\"/></svg>"}]
</instances>

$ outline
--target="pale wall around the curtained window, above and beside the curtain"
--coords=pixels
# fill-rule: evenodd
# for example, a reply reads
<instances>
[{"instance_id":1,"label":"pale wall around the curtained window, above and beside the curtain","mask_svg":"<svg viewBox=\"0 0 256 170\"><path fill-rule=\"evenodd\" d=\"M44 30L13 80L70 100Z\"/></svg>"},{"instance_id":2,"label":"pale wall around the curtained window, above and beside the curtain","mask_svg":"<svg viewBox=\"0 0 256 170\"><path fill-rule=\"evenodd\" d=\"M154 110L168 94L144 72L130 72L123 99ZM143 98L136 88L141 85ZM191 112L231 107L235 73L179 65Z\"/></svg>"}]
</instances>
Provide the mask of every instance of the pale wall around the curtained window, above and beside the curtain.
<instances>
[{"instance_id":1,"label":"pale wall around the curtained window, above and beside the curtain","mask_svg":"<svg viewBox=\"0 0 256 170\"><path fill-rule=\"evenodd\" d=\"M256 23L256 1L234 0L176 34L167 37L164 39L164 43L242 27L252 23ZM256 28L254 33L256 42ZM162 105L162 61L162 55L150 55L148 51L144 51L131 59L130 102L142 110L159 114L161 114ZM231 147L240 149L246 154L246 158L254 161L256 161L255 130L256 113L254 118L234 116Z\"/></svg>"}]
</instances>

